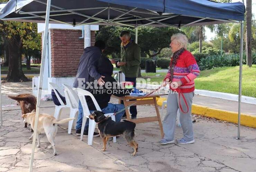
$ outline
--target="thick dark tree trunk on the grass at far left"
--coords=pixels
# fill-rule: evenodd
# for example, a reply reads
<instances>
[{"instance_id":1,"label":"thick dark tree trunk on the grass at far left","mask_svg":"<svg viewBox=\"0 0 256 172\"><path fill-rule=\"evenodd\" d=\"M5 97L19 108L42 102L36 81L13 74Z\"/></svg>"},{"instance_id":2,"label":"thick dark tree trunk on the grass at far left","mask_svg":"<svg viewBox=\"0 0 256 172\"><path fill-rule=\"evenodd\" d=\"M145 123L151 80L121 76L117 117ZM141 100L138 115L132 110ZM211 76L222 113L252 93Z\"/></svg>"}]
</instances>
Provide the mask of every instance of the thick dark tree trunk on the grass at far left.
<instances>
[{"instance_id":1,"label":"thick dark tree trunk on the grass at far left","mask_svg":"<svg viewBox=\"0 0 256 172\"><path fill-rule=\"evenodd\" d=\"M24 75L21 65L22 40L15 35L8 42L9 47L9 69L6 77L7 82L24 82L29 79Z\"/></svg>"}]
</instances>

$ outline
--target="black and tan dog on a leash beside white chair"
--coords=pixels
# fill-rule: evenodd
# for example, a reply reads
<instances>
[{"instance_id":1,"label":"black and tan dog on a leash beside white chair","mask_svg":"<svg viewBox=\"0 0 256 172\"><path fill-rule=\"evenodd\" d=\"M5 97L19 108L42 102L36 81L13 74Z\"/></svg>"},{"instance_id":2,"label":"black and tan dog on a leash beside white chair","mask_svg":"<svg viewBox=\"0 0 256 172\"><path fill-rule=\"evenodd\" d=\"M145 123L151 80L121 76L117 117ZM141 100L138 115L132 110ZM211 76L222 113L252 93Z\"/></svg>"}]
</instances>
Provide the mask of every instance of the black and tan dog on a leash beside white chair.
<instances>
[{"instance_id":1,"label":"black and tan dog on a leash beside white chair","mask_svg":"<svg viewBox=\"0 0 256 172\"><path fill-rule=\"evenodd\" d=\"M106 144L109 137L124 135L128 144L134 149L131 155L135 156L138 151L138 143L134 141L134 128L136 126L134 122L127 120L115 122L112 121L111 118L104 116L103 112L97 110L89 115L89 118L98 124L98 130L103 142L101 151L106 151Z\"/></svg>"}]
</instances>

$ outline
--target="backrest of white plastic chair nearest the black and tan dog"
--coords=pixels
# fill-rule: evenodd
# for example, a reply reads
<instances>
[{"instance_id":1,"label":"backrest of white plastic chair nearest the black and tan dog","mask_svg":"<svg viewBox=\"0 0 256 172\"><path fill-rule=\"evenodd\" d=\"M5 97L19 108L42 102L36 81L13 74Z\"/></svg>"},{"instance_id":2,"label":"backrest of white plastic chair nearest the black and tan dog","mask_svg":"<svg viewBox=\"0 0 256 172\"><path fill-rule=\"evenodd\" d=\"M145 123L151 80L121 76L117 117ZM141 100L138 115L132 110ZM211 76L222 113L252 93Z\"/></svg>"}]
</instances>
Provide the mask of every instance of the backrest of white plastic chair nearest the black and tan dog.
<instances>
[{"instance_id":1,"label":"backrest of white plastic chair nearest the black and tan dog","mask_svg":"<svg viewBox=\"0 0 256 172\"><path fill-rule=\"evenodd\" d=\"M96 107L96 109L101 111L101 108L100 108L99 104L97 103L96 99L94 98L94 96L90 92L88 92L84 89L81 89L81 88L76 88L76 91L77 91L77 95L79 97L79 100L81 101L84 115L86 115L86 116L91 115L91 112L88 108L88 105L87 105L87 102L86 102L86 99L85 99L85 96L90 96L92 101L93 101L94 106Z\"/></svg>"}]
</instances>

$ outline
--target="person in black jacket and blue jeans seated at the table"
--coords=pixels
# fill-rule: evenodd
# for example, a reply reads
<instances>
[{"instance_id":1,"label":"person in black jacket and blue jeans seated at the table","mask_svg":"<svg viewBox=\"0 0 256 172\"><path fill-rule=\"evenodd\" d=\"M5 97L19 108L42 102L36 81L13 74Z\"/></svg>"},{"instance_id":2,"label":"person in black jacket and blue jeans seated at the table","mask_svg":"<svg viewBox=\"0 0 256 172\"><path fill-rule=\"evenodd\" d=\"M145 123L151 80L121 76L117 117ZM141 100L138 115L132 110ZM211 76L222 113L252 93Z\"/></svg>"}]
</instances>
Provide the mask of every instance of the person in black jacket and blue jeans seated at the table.
<instances>
[{"instance_id":1,"label":"person in black jacket and blue jeans seated at the table","mask_svg":"<svg viewBox=\"0 0 256 172\"><path fill-rule=\"evenodd\" d=\"M105 114L108 114L108 113L117 112L125 108L123 104L109 103L110 97L112 94L118 97L122 97L125 95L129 95L131 92L131 89L121 89L117 86L117 81L112 77L113 65L111 64L110 60L107 57L101 56L99 58L97 62L97 71L99 72L99 74L104 76L103 80L105 84L100 87L99 84L97 83L97 80L95 82L95 80L92 77L89 77L89 82L91 82L90 83L91 86L90 88L86 88L86 90L92 93L97 103L99 104L101 111L104 112ZM93 104L93 101L90 98L90 96L86 96L85 98L86 98L88 108L92 113L94 110L96 110ZM125 110L116 114L116 122L119 122L121 120L124 113L125 113ZM79 117L77 119L77 123L81 123L80 126L82 126L82 121L83 121L82 117ZM86 133L88 135L88 128L89 128L89 119L87 119L85 123L84 135L86 135ZM81 133L81 129L79 133ZM99 135L96 135L94 133L93 137L97 137L97 136Z\"/></svg>"}]
</instances>

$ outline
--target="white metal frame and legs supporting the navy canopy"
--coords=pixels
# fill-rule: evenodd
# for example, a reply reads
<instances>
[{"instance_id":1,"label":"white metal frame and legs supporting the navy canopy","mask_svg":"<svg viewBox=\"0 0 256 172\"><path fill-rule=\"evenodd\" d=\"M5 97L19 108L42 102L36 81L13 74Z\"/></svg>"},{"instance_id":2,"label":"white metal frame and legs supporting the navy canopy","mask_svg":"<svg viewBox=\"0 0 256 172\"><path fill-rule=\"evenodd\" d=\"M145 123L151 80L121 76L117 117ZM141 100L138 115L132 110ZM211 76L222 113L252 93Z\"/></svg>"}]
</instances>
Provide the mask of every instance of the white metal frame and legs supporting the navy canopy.
<instances>
[{"instance_id":1,"label":"white metal frame and legs supporting the navy canopy","mask_svg":"<svg viewBox=\"0 0 256 172\"><path fill-rule=\"evenodd\" d=\"M230 22L236 22L236 23L240 23L241 24L241 28L240 28L240 62L239 62L239 95L238 95L238 133L237 133L237 138L236 139L240 139L240 116L241 116L241 91L242 91L242 67L243 67L243 21L239 22L239 21L235 21L235 20L225 20L225 19L215 19L215 18L204 18L204 17L197 17L200 18L199 20L193 21L191 23L188 24L184 24L181 26L176 26L176 25L172 25L172 24L168 24L165 23L164 20L167 19L171 19L171 18L175 18L177 16L180 16L180 14L165 14L163 13L162 15L158 14L155 11L152 10L147 10L148 12L143 12L143 13L148 13L148 14L152 14L155 15L155 17L148 17L148 18L143 18L140 17L139 15L135 15L135 14L131 14L131 12L135 12L135 13L141 13L141 11L136 11L137 8L133 8L132 10L127 10L127 9L121 9L121 8L114 8L114 7L95 7L95 8L81 8L81 9L64 9L62 7L58 7L55 5L51 5L51 0L47 0L46 2L40 1L40 0L35 0L36 2L39 3L43 3L46 4L47 8L46 11L33 11L33 12L24 12L20 9L18 9L16 11L16 13L20 13L20 14L30 14L32 16L28 16L28 17L17 17L17 18L6 18L6 19L1 19L1 20L21 20L21 21L27 21L27 22L31 22L29 20L26 19L31 19L31 18L44 18L45 19L45 30L44 30L44 39L43 39L43 51L42 51L42 60L41 60L41 68L40 68L40 81L39 81L39 88L38 88L38 93L37 93L37 104L36 104L36 119L35 119L35 129L34 129L34 137L33 137L33 143L32 143L32 153L31 153L31 159L30 159L30 164L29 164L29 171L31 172L33 169L33 160L34 160L34 153L35 153L35 144L36 144L36 134L37 134L37 125L38 125L38 115L39 115L39 109L40 109L40 97L42 95L42 85L43 85L43 74L44 74L44 65L45 65L45 55L46 55L46 46L47 46L47 34L48 34L48 24L49 21L52 22L56 22L56 23L62 23L62 24L68 24L68 25L72 25L75 26L71 23L68 22L63 22L63 21L59 21L59 20L55 20L55 19L51 19L51 16L56 16L56 15L69 15L69 14L77 14L77 15L81 15L82 17L85 17L86 19L82 22L80 22L79 24L77 24L76 26L80 26L80 25L90 25L90 24L95 24L95 23L99 23L99 24L103 24L103 25L124 25L124 26L130 26L136 29L136 39L135 42L138 42L138 27L142 27L142 26L146 26L146 25L151 25L151 26L168 26L168 27L175 27L175 28L180 28L180 27L185 27L185 26L192 26L192 25L204 25L204 24L213 24L216 22L207 22L207 23L203 23L201 21L205 20L205 19L213 19L213 20L217 20L220 21L220 23L230 23ZM244 0L243 0L244 3ZM50 8L54 7L57 8L59 10L54 10L54 11L50 11ZM99 9L100 11L95 13L92 16L89 15L85 15L76 11L79 10L91 10L91 9ZM96 15L100 14L101 12L108 10L108 20L104 20L104 19L100 19L95 17ZM119 11L122 14L120 14L118 17L114 18L114 19L110 19L110 10L115 10L115 11ZM54 14L54 15L50 15L50 12L67 12L64 14ZM38 15L40 13L46 13L45 15ZM124 15L129 14L130 17L123 17ZM189 15L181 15L181 16L186 16L186 17L195 17L195 16L189 16ZM129 18L134 18L136 17L136 19L129 19ZM159 20L154 20L155 18L163 18L163 19L159 19ZM84 23L85 21L89 20L89 19L93 19L96 20L94 22L90 22L90 23ZM117 21L117 19L119 19L119 21ZM123 19L120 21L120 19ZM147 24L125 24L122 22L127 22L127 21L138 21L138 20L147 20L150 21L150 23ZM41 21L38 21L41 22ZM200 22L200 23L199 23ZM1 69L1 66L0 66ZM0 72L0 79L1 79L1 72ZM1 82L0 82L0 115L1 115L1 126L2 126L2 94L1 94Z\"/></svg>"}]
</instances>

